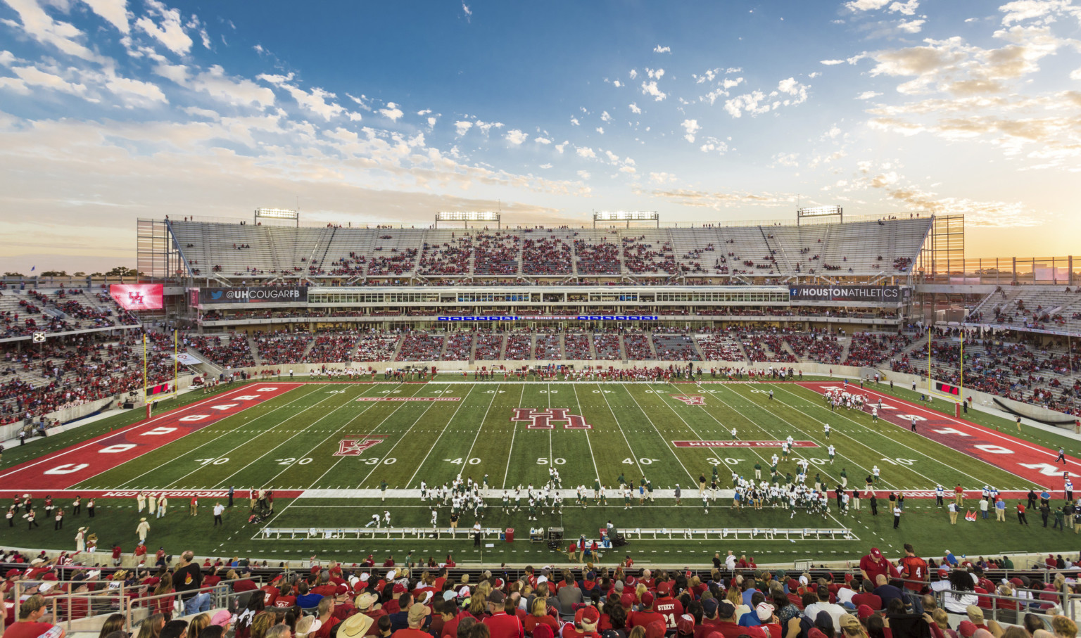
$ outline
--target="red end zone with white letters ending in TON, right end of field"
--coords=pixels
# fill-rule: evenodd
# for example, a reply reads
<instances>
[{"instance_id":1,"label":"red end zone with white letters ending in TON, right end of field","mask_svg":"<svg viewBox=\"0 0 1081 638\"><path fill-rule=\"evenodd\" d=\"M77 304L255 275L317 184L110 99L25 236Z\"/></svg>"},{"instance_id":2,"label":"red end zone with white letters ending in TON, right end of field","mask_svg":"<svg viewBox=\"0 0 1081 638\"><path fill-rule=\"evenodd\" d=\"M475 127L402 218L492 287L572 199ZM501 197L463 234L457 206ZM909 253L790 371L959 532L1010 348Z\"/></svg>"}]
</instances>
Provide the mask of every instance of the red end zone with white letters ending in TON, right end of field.
<instances>
[{"instance_id":1,"label":"red end zone with white letters ending in TON, right end of field","mask_svg":"<svg viewBox=\"0 0 1081 638\"><path fill-rule=\"evenodd\" d=\"M841 383L818 382L799 385L819 394L835 388L845 390ZM1062 494L1065 473L1068 471L1071 477L1081 476L1078 474L1081 473L1081 463L1077 458L1067 456L1065 465L1060 462L1055 463L1055 458L1058 457L1057 451L962 418L955 418L936 410L929 410L918 403L884 395L870 387L860 388L858 385L849 384L846 391L866 395L875 404L878 404L881 398L882 410L879 411L879 418L909 429L910 420L915 416L917 434L920 436L1017 475L1031 481L1032 486L1058 490L1056 497ZM870 411L870 407L867 407L867 411ZM952 487L946 486L947 489Z\"/></svg>"}]
</instances>

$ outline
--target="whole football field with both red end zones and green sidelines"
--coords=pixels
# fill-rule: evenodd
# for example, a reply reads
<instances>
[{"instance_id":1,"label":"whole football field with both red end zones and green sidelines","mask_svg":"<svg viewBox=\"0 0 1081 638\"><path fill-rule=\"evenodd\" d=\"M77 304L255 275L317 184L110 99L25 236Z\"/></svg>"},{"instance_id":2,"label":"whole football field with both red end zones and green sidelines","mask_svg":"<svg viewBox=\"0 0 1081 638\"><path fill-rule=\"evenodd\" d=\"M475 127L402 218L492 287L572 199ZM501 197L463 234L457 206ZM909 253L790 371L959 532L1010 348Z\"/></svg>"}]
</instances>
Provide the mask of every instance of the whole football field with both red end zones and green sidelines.
<instances>
[{"instance_id":1,"label":"whole football field with both red end zones and green sidelines","mask_svg":"<svg viewBox=\"0 0 1081 638\"><path fill-rule=\"evenodd\" d=\"M544 544L530 544L530 528L558 527L569 537L593 539L610 520L628 532L663 530L630 535L630 544L618 550L654 562L702 561L726 549L756 554L760 561L771 556L778 561L857 556L868 543L899 549L904 542L940 544L958 533L965 540L950 542L971 542L975 548L970 554L1044 547L1057 541L1044 537L1049 532L1039 528L1036 513L1030 521L1037 524L1018 533L1013 501L1007 523L996 522L991 514L989 521L962 521L953 528L934 499L926 499L936 484L948 493L960 484L974 508L972 497L984 486L1012 499L1036 487L1049 490L1060 504L1063 471L1081 474L1081 465L1072 456L1068 465L1054 463L1057 450L1049 448L1058 444L1057 439L1038 443L1031 437L1015 438L1005 427L1000 434L918 402L879 395L881 386L842 387L881 406L882 417L875 421L869 408L831 410L822 391L832 387L842 386L709 380L258 382L210 399L193 397L199 400L151 420L5 467L0 483L3 495L17 490L43 499L49 492L64 503L76 493L97 495L102 514L93 522L112 532L125 551L134 544L138 515L133 496L138 491L164 492L171 500L164 518L151 518L148 544L182 543L201 554L256 558L413 550L425 556L455 551L459 561L483 555L508 562L551 562L559 555ZM913 417L917 431L910 429ZM831 490L846 479L850 492L864 491L877 467L879 515L870 515L866 497L860 511L842 513L832 493L825 516L779 507L733 508L732 474L751 479L757 465L769 480L771 458L783 456L780 441L788 437L793 440L791 453L777 464L782 482L786 475L796 476L797 462L805 458L808 484L817 478ZM830 446L836 449L832 460ZM560 475L562 511L542 506L537 520L529 520L524 493L530 486L544 486L551 468ZM708 482L715 468L720 491L704 504L699 479L704 476ZM618 490L620 476L635 487L629 508ZM422 501L422 481L430 489L457 477L486 483L482 526L515 528L515 543L489 537L475 548L471 537L446 531L450 508L442 505L436 509L432 531L432 502ZM637 488L643 478L654 489L654 501L640 504ZM606 504L593 497L597 482L605 488ZM578 486L590 496L585 508L575 503ZM677 486L680 503L675 499ZM210 509L226 501L229 488L236 490L235 507L225 526L212 527ZM275 493L273 514L257 523L248 522L253 488ZM504 510L504 492L513 504L519 489L522 508ZM893 529L886 500L892 491L908 496L898 530ZM191 494L200 497L198 516L188 513ZM393 531L342 532L368 530L372 516L384 513L389 513ZM468 529L473 522L468 511L458 527ZM997 527L1003 524L1009 527ZM283 535L281 530L292 531ZM310 533L297 535L297 530ZM699 536L685 530L725 533ZM806 531L793 535L793 530ZM845 533L823 536L816 530ZM13 542L5 533L14 530L0 533L5 544L32 546L25 540ZM70 534L52 529L32 533L55 535L58 543L45 546L67 547L63 539L72 535L74 528ZM106 542L111 537L102 536Z\"/></svg>"}]
</instances>

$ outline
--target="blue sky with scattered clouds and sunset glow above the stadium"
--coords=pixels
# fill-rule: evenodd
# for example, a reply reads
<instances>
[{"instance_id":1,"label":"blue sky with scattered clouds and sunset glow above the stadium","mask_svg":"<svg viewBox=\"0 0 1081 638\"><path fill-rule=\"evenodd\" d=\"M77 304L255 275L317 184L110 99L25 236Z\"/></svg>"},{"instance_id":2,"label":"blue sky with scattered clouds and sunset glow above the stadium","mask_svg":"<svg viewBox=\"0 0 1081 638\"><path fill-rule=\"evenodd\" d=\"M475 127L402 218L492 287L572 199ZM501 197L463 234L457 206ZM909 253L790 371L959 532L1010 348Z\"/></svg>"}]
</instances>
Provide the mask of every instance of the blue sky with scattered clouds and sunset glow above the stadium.
<instances>
[{"instance_id":1,"label":"blue sky with scattered clouds and sunset glow above the stadium","mask_svg":"<svg viewBox=\"0 0 1081 638\"><path fill-rule=\"evenodd\" d=\"M1079 0L1081 1L1081 0ZM966 215L1081 254L1073 0L0 0L0 271L135 222Z\"/></svg>"}]
</instances>

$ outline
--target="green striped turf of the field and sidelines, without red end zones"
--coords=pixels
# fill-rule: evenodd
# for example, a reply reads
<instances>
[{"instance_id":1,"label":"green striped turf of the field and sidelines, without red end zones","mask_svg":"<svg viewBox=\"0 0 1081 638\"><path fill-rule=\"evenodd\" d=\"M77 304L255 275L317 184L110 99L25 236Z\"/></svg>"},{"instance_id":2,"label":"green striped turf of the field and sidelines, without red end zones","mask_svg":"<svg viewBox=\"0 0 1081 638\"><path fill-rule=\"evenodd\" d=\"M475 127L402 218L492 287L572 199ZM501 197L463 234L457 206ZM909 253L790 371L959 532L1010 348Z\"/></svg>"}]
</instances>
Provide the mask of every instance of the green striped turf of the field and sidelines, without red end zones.
<instances>
[{"instance_id":1,"label":"green striped turf of the field and sidelines, without red end zones","mask_svg":"<svg viewBox=\"0 0 1081 638\"><path fill-rule=\"evenodd\" d=\"M774 399L768 397L774 390ZM907 389L894 394L902 398L918 396ZM195 396L192 396L195 395ZM163 409L203 397L198 394L162 406ZM681 395L705 397L704 404L690 406L672 398ZM358 398L456 398L456 401L371 401ZM942 406L945 408L945 406ZM537 411L565 409L580 415L588 429L568 429L556 422L551 429L530 429L525 422L512 422L516 409ZM1012 422L970 412L973 422L1013 428ZM101 434L110 427L137 421L126 413L50 437L46 441L15 449L4 454L3 466L58 449L77 440ZM829 441L824 424L832 429ZM790 561L800 558L826 559L855 557L869 546L898 550L912 542L925 555L949 548L955 553L999 554L1033 548L1064 549L1078 536L1058 539L1059 531L1039 527L1039 517L1030 516L1029 528L1013 518L1006 523L977 521L950 527L945 513L933 500L909 499L899 530L892 529L892 517L871 517L866 500L863 510L842 516L836 510L824 519L798 511L734 510L731 500L718 500L705 514L697 492L697 478L719 469L721 488L732 487L731 471L753 475L756 463L769 477L769 458L774 448L704 449L675 447L673 441L729 441L731 428L744 441L776 441L791 436L818 447L797 448L778 469L796 474L796 460L811 461L809 482L820 475L829 486L839 481L841 469L849 486L863 484L872 466L881 468L879 490L929 490L936 483L961 482L969 488L992 484L1000 490L1027 490L1022 478L984 464L965 454L908 433L885 422L871 423L859 411L831 412L819 395L793 384L618 384L618 383L471 383L448 376L428 384L307 384L275 399L249 408L239 414L200 429L126 464L115 467L76 486L77 489L179 490L223 489L233 486L272 487L275 490L308 491L304 497L279 499L270 520L252 526L246 522L248 501L238 497L226 515L224 528L212 528L210 507L203 501L200 516L190 517L187 504L174 499L163 519L151 519L148 544L156 549L165 545L170 551L195 549L205 555L250 555L254 558L307 558L311 554L342 559L363 558L369 553L385 557L393 553L401 561L413 550L415 556L440 556L454 551L464 560L508 562L556 562L557 555L543 544L531 544L531 527L562 527L568 535L596 535L608 520L619 528L848 528L858 540L646 540L628 545L618 554L629 553L638 561L704 562L713 551L733 549L751 554L760 561ZM1076 441L1042 430L1024 437L1045 447ZM343 440L378 439L358 455L337 456ZM837 448L830 464L826 446ZM41 446L48 446L41 447ZM562 514L546 513L538 521L526 520L524 511L504 513L499 496L504 489L532 483L539 487L556 467L564 489L585 484L590 489L599 480L609 488L609 506L590 501L585 509L564 503ZM395 527L430 529L428 504L416 495L405 497L390 492L386 503L377 490L386 482L390 490L416 490L421 481L428 486L450 482L456 476L481 480L488 475L489 511L483 521L489 528L515 528L512 544L475 549L467 540L284 540L265 537L264 528L339 528L362 527L373 514L391 513ZM637 481L648 477L655 489L671 490L680 484L681 505L667 496L655 503L624 509L614 486L619 475ZM318 492L343 490L342 492ZM316 491L316 492L313 492ZM637 496L637 494L636 494ZM102 500L93 521L104 544L118 542L131 551L135 541L134 499ZM882 504L885 510L885 504ZM85 514L83 515L85 516ZM467 514L459 527L468 528L473 517ZM21 547L74 546L80 521L68 519L65 530L54 532L51 521L31 532L0 528L0 542ZM81 524L81 523L80 523ZM448 509L442 508L438 524L445 528ZM1072 530L1068 530L1072 535ZM483 554L482 554L483 553ZM564 557L565 558L565 557Z\"/></svg>"}]
</instances>

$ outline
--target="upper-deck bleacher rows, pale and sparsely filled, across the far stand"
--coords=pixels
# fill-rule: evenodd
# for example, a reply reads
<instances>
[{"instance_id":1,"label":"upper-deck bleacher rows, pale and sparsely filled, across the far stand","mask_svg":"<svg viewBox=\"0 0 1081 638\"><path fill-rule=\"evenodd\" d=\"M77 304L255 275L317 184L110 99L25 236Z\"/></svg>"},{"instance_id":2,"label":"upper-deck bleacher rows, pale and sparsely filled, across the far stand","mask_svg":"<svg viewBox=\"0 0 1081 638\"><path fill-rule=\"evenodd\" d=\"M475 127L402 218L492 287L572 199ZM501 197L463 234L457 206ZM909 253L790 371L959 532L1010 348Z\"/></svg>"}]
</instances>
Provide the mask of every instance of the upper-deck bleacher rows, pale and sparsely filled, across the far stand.
<instances>
[{"instance_id":1,"label":"upper-deck bleacher rows, pale and sparsely filled, across the far stand","mask_svg":"<svg viewBox=\"0 0 1081 638\"><path fill-rule=\"evenodd\" d=\"M930 217L651 229L288 228L171 221L192 275L226 279L908 275Z\"/></svg>"}]
</instances>

